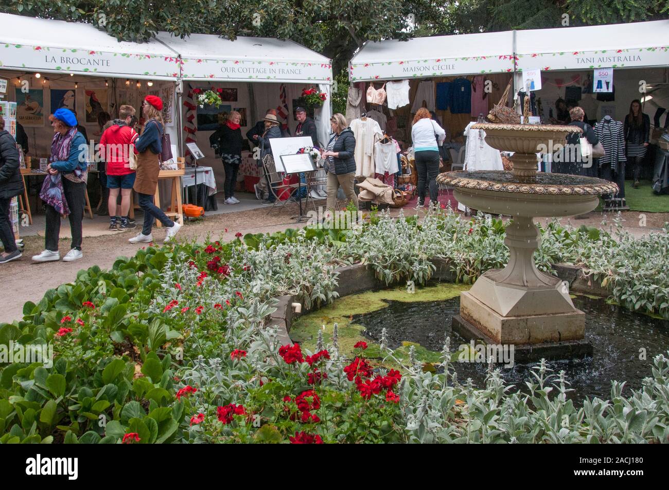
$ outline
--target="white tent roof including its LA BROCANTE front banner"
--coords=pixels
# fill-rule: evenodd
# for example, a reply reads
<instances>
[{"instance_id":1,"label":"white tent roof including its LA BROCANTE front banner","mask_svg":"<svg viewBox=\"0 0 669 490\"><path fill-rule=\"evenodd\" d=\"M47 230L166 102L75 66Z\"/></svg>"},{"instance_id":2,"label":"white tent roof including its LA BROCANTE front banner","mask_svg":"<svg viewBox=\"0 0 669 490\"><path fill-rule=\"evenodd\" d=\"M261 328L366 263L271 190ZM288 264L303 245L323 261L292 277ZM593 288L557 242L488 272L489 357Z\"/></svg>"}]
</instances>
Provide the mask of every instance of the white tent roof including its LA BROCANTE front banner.
<instances>
[{"instance_id":1,"label":"white tent roof including its LA BROCANTE front banner","mask_svg":"<svg viewBox=\"0 0 669 490\"><path fill-rule=\"evenodd\" d=\"M177 53L154 39L119 42L92 24L7 13L0 13L0 25L0 61L6 68L156 79L175 78L179 71Z\"/></svg>"}]
</instances>

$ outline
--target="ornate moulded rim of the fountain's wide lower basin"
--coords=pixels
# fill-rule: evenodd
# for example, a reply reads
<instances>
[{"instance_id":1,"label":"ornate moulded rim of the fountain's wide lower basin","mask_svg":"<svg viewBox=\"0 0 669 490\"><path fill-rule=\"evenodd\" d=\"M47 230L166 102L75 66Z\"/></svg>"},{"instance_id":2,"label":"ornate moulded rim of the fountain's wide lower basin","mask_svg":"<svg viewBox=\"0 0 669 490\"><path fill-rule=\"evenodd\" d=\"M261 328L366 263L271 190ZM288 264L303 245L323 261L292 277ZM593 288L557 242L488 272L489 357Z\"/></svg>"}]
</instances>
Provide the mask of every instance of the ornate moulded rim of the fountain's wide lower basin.
<instances>
[{"instance_id":1,"label":"ornate moulded rim of the fountain's wide lower basin","mask_svg":"<svg viewBox=\"0 0 669 490\"><path fill-rule=\"evenodd\" d=\"M546 196L558 195L605 195L616 194L618 187L613 182L595 177L581 177L591 183L580 185L554 185L541 182L503 182L476 178L477 172L456 170L455 172L444 172L437 176L437 182L450 185L460 189L478 189L480 191L492 191L496 193L520 193L537 194ZM512 175L512 172L504 170L484 170L485 174L500 174L500 176ZM541 172L539 172L541 174ZM539 175L538 174L538 175Z\"/></svg>"}]
</instances>

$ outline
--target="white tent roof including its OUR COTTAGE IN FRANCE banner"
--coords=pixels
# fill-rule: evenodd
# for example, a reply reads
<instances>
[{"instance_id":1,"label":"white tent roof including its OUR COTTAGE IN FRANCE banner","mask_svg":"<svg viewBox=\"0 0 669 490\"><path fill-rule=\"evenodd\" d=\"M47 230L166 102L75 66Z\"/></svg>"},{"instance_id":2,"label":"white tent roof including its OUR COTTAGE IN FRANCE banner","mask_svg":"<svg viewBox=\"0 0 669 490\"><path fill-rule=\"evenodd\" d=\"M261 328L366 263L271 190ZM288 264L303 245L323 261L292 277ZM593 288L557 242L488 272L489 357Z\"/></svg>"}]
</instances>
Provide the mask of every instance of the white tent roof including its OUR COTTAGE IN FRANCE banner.
<instances>
[{"instance_id":1,"label":"white tent roof including its OUR COTTAGE IN FRANCE banner","mask_svg":"<svg viewBox=\"0 0 669 490\"><path fill-rule=\"evenodd\" d=\"M248 82L329 83L332 62L294 41L272 37L237 37L191 34L185 39L166 32L157 39L183 58L183 78L189 80L237 80Z\"/></svg>"}]
</instances>

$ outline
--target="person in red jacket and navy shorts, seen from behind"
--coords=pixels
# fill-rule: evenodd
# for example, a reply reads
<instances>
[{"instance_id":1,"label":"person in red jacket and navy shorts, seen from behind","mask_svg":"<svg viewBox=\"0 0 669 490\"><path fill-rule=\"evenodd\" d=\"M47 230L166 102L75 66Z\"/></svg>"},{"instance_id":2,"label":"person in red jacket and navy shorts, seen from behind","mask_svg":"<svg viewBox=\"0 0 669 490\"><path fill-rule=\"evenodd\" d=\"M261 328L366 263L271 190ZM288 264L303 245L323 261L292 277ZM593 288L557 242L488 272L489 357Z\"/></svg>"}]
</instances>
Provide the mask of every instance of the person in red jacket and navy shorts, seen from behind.
<instances>
[{"instance_id":1,"label":"person in red jacket and navy shorts, seen from behind","mask_svg":"<svg viewBox=\"0 0 669 490\"><path fill-rule=\"evenodd\" d=\"M104 130L100 138L100 150L104 152L107 164L107 188L109 189L109 229L126 230L136 227L130 221L130 194L134 185L135 171L130 169L130 145L138 134L130 126L134 116L134 107L120 106L118 119ZM121 193L121 205L118 206L118 189Z\"/></svg>"}]
</instances>

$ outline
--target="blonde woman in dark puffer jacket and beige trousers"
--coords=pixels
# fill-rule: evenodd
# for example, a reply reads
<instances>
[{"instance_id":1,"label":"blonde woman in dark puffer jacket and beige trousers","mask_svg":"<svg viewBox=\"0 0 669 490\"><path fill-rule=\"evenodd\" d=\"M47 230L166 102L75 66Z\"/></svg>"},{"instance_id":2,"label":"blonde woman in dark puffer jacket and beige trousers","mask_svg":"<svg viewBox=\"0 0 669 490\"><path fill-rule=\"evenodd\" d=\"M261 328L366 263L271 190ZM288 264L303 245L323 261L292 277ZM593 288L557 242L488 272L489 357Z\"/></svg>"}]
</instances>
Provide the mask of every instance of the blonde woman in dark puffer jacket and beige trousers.
<instances>
[{"instance_id":1,"label":"blonde woman in dark puffer jacket and beige trousers","mask_svg":"<svg viewBox=\"0 0 669 490\"><path fill-rule=\"evenodd\" d=\"M346 118L343 114L334 114L330 118L330 127L334 135L330 138L326 151L320 155L328 162L326 171L328 172L328 184L326 192L328 199L326 209L334 210L337 200L337 191L339 186L344 189L347 201L358 207L358 197L355 195L355 136L348 127Z\"/></svg>"}]
</instances>

